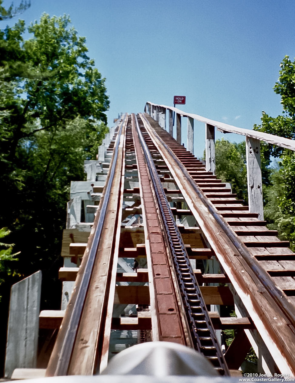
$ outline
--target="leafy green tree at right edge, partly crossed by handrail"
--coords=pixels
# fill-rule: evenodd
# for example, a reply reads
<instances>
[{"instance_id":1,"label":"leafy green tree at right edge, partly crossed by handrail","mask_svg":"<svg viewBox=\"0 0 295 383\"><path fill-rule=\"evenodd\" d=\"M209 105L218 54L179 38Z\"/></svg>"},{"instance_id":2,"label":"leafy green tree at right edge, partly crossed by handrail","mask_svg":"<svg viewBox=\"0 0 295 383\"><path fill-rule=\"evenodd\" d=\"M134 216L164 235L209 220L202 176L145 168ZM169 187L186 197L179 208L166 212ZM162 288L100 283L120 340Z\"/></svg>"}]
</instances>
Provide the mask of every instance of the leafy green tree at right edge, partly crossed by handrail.
<instances>
[{"instance_id":1,"label":"leafy green tree at right edge, partly crossed by handrail","mask_svg":"<svg viewBox=\"0 0 295 383\"><path fill-rule=\"evenodd\" d=\"M262 111L261 124L255 124L254 130L295 139L295 61L285 56L280 68L274 91L281 96L283 115L273 118ZM266 217L271 227L279 230L280 238L290 240L291 248L295 249L295 154L278 146L263 144L262 155L269 162L270 156L279 157L279 169L273 171L271 187L264 191Z\"/></svg>"}]
</instances>

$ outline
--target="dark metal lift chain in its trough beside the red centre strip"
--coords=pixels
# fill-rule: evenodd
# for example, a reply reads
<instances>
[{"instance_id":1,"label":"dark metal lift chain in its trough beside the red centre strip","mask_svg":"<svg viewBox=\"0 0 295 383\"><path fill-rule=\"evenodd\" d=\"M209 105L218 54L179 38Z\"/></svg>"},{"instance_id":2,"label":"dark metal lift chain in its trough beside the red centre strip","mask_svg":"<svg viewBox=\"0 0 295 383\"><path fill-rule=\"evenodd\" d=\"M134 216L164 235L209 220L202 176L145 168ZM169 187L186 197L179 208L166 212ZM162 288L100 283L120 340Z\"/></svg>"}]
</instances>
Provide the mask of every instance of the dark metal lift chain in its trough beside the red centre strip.
<instances>
[{"instance_id":1,"label":"dark metal lift chain in its trough beside the red centre strip","mask_svg":"<svg viewBox=\"0 0 295 383\"><path fill-rule=\"evenodd\" d=\"M166 238L172 254L173 265L176 271L181 298L185 308L186 318L190 327L194 349L202 353L221 375L229 375L221 347L216 339L215 331L209 318L203 296L191 267L181 235L177 229L170 205L163 190L157 169L148 150L147 144L140 130L138 119L135 116L138 137L142 144L147 160L150 177L157 197L158 208L166 229Z\"/></svg>"}]
</instances>

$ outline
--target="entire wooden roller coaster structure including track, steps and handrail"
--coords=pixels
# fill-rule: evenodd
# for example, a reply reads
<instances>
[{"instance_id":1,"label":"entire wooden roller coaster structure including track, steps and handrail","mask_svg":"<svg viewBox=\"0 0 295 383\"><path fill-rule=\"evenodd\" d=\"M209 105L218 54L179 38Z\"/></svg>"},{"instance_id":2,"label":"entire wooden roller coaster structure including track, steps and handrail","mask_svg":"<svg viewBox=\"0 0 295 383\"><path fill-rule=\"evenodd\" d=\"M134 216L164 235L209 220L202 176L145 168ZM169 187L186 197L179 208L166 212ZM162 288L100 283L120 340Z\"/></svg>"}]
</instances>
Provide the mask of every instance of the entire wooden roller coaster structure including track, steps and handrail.
<instances>
[{"instance_id":1,"label":"entire wooden roller coaster structure including track, steps and handrail","mask_svg":"<svg viewBox=\"0 0 295 383\"><path fill-rule=\"evenodd\" d=\"M206 162L193 155L194 119L206 124ZM246 136L249 206L214 175L215 127ZM259 166L260 141L294 142L152 103L112 133L85 165L87 196L71 189L59 271L69 301L39 316L56 337L46 376L98 374L125 347L157 340L197 350L220 375L252 346L258 373L294 376L295 255L265 226ZM73 223L81 206L85 222Z\"/></svg>"}]
</instances>

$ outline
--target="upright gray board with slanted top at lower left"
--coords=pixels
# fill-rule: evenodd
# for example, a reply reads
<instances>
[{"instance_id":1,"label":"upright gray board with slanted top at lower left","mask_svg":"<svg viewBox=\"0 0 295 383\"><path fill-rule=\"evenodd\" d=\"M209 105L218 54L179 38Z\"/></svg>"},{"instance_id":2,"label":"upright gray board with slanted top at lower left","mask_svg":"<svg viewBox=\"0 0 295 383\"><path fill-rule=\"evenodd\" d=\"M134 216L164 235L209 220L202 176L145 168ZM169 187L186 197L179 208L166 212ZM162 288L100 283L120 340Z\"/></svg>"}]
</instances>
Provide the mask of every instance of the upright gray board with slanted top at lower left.
<instances>
[{"instance_id":1,"label":"upright gray board with slanted top at lower left","mask_svg":"<svg viewBox=\"0 0 295 383\"><path fill-rule=\"evenodd\" d=\"M15 368L35 368L38 350L39 311L42 273L15 283L11 288L5 377Z\"/></svg>"}]
</instances>

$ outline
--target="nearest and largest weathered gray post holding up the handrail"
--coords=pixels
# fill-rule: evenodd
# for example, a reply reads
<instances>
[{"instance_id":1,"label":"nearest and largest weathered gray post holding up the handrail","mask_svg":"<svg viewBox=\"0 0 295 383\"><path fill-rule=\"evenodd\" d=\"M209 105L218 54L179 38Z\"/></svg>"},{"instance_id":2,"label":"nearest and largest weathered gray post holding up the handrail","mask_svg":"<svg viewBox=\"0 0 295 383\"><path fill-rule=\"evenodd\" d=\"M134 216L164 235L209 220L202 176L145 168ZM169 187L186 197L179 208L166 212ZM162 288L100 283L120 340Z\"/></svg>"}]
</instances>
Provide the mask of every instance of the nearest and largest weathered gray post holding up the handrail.
<instances>
[{"instance_id":1,"label":"nearest and largest weathered gray post holding up the handrail","mask_svg":"<svg viewBox=\"0 0 295 383\"><path fill-rule=\"evenodd\" d=\"M260 161L260 141L246 136L246 160L249 211L258 213L263 221L262 177Z\"/></svg>"}]
</instances>

